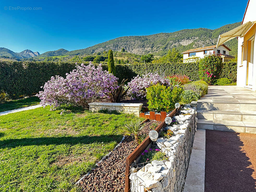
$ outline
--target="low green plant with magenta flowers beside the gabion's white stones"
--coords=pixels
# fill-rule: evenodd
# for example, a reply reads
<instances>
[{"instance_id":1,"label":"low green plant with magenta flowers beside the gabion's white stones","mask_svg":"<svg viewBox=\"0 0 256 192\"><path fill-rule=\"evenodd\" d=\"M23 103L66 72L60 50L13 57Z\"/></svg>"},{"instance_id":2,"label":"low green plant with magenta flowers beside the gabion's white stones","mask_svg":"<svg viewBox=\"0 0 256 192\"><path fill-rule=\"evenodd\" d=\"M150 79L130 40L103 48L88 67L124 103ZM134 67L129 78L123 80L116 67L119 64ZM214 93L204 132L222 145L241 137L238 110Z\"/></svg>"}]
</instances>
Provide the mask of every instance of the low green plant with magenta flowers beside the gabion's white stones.
<instances>
[{"instance_id":1,"label":"low green plant with magenta flowers beside the gabion's white stones","mask_svg":"<svg viewBox=\"0 0 256 192\"><path fill-rule=\"evenodd\" d=\"M166 157L165 153L161 152L159 149L150 148L149 150L145 150L141 154L140 163L151 162L159 159L168 160L168 157Z\"/></svg>"}]
</instances>

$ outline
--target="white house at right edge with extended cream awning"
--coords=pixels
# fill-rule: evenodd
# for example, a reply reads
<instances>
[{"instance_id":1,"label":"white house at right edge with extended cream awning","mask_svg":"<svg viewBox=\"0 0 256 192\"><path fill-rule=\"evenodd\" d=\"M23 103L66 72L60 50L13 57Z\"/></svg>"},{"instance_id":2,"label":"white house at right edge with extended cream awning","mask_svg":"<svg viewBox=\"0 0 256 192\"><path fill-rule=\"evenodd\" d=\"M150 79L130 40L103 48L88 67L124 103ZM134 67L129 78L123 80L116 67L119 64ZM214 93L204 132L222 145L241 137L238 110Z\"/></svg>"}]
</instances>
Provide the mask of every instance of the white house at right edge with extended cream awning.
<instances>
[{"instance_id":1,"label":"white house at right edge with extended cream awning","mask_svg":"<svg viewBox=\"0 0 256 192\"><path fill-rule=\"evenodd\" d=\"M256 1L249 0L243 16L242 24L219 36L217 47L233 38L238 39L237 85L256 91Z\"/></svg>"}]
</instances>

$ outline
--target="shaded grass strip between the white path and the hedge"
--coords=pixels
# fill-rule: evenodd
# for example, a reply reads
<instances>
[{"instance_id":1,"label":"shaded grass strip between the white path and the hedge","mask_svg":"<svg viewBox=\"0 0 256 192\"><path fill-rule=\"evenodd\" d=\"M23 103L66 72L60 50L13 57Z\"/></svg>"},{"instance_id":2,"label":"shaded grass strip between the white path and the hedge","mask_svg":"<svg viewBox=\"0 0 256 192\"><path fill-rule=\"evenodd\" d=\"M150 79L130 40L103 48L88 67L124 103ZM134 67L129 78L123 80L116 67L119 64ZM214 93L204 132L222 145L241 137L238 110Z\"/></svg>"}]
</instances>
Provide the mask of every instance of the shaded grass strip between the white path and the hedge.
<instances>
[{"instance_id":1,"label":"shaded grass strip between the white path and the hedge","mask_svg":"<svg viewBox=\"0 0 256 192\"><path fill-rule=\"evenodd\" d=\"M5 103L0 104L0 112L18 109L22 107L28 107L31 105L37 105L39 104L39 102L40 102L40 99L36 96L24 98L24 99L6 101Z\"/></svg>"}]
</instances>

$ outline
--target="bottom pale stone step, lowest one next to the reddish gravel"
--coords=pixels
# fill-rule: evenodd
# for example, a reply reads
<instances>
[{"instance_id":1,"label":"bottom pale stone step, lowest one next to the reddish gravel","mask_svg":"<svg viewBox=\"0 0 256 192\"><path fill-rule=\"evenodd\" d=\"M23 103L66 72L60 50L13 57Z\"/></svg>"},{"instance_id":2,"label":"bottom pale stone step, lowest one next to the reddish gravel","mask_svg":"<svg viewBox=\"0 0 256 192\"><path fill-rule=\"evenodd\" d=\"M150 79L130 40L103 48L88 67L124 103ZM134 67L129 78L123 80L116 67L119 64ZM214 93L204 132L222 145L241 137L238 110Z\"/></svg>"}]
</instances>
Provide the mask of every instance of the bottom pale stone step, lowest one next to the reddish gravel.
<instances>
[{"instance_id":1,"label":"bottom pale stone step, lowest one next to the reddish gravel","mask_svg":"<svg viewBox=\"0 0 256 192\"><path fill-rule=\"evenodd\" d=\"M238 133L256 133L256 122L198 119L197 129L232 131Z\"/></svg>"}]
</instances>

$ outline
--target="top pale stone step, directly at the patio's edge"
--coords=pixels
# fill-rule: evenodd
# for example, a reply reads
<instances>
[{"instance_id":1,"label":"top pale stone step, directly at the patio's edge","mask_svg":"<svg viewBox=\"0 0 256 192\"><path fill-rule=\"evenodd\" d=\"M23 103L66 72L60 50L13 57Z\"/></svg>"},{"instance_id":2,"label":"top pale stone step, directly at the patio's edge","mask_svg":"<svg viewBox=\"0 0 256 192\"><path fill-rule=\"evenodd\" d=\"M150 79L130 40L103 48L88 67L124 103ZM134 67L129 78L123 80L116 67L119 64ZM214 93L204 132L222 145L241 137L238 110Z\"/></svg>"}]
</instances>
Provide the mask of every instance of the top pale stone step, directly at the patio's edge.
<instances>
[{"instance_id":1,"label":"top pale stone step, directly at the patio's edge","mask_svg":"<svg viewBox=\"0 0 256 192\"><path fill-rule=\"evenodd\" d=\"M221 100L221 101L197 101L197 109L207 110L234 110L234 111L255 111L256 103L240 103L235 100Z\"/></svg>"}]
</instances>

